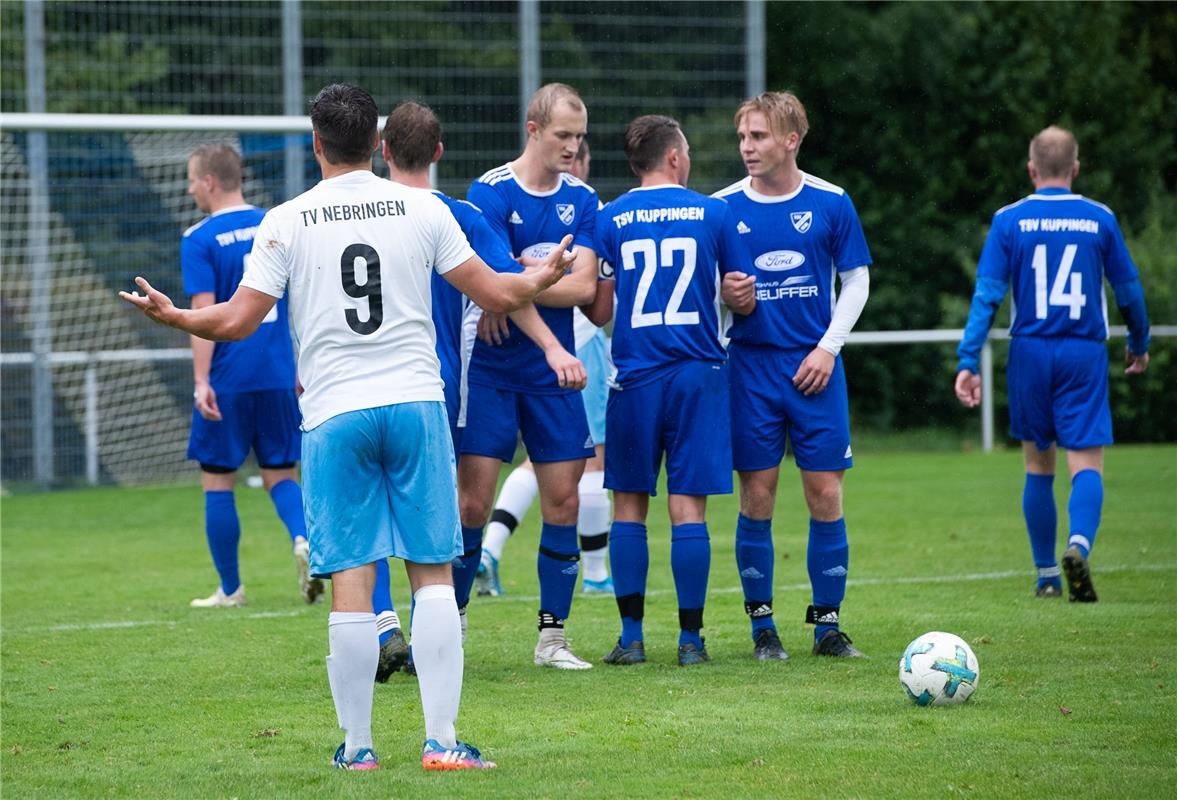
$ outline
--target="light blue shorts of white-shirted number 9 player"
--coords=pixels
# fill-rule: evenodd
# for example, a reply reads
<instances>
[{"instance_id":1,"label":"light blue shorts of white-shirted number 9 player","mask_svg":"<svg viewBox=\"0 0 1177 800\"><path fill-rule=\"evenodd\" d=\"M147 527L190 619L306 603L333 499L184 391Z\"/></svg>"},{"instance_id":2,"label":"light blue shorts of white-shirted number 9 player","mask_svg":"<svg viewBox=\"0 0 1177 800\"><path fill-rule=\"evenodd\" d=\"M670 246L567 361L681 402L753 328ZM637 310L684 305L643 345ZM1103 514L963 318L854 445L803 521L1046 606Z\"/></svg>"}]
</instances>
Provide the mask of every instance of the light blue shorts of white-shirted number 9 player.
<instances>
[{"instance_id":1,"label":"light blue shorts of white-shirted number 9 player","mask_svg":"<svg viewBox=\"0 0 1177 800\"><path fill-rule=\"evenodd\" d=\"M302 435L311 573L391 556L445 564L461 555L453 444L441 402L332 416Z\"/></svg>"}]
</instances>

